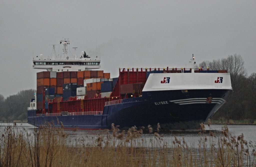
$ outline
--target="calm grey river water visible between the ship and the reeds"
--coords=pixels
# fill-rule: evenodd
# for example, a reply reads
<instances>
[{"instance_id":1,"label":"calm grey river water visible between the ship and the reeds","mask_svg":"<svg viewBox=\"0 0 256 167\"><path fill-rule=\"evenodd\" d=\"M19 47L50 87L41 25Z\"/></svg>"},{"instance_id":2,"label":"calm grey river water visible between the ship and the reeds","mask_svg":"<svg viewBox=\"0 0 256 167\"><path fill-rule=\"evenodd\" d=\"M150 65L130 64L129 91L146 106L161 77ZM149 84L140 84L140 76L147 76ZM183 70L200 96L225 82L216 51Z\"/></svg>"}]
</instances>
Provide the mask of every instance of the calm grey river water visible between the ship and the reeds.
<instances>
[{"instance_id":1,"label":"calm grey river water visible between the ship and the reeds","mask_svg":"<svg viewBox=\"0 0 256 167\"><path fill-rule=\"evenodd\" d=\"M0 123L1 128L13 125L12 123ZM31 126L28 123L17 123L18 127L26 128L29 132L32 132L34 130L34 126ZM217 136L220 136L221 127L224 125L217 125L212 124L210 128L208 125L205 125L207 130L216 131ZM256 125L228 125L229 132L232 135L238 136L240 134L244 134L244 139L247 141L256 141ZM69 140L75 141L75 139L81 139L85 138L87 140L95 140L95 137L97 137L98 134L103 133L103 131L65 131L69 134ZM209 131L206 133L209 134ZM185 141L188 143L188 145L194 144L195 146L198 144L198 140L200 139L199 130L193 130L193 131L169 131L169 132L160 132L160 134L163 134L163 138L168 142L171 143L174 140L174 137L176 136L178 139L182 140L184 137ZM94 139L92 139L94 138ZM142 137L145 140L154 139L154 134L143 134Z\"/></svg>"}]
</instances>

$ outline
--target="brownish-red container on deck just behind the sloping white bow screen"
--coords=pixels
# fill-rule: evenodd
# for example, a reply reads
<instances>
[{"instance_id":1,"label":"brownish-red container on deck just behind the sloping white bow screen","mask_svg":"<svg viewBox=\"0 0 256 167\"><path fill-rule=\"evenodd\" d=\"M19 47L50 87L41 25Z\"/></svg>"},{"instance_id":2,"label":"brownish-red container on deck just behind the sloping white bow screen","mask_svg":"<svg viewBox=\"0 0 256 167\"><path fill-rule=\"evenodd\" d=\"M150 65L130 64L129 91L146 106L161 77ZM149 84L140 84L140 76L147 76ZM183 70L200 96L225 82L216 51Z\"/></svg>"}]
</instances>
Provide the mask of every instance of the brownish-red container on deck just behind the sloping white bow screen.
<instances>
[{"instance_id":1,"label":"brownish-red container on deck just behind the sloping white bow screen","mask_svg":"<svg viewBox=\"0 0 256 167\"><path fill-rule=\"evenodd\" d=\"M120 94L141 93L143 83L130 83L120 85Z\"/></svg>"}]
</instances>

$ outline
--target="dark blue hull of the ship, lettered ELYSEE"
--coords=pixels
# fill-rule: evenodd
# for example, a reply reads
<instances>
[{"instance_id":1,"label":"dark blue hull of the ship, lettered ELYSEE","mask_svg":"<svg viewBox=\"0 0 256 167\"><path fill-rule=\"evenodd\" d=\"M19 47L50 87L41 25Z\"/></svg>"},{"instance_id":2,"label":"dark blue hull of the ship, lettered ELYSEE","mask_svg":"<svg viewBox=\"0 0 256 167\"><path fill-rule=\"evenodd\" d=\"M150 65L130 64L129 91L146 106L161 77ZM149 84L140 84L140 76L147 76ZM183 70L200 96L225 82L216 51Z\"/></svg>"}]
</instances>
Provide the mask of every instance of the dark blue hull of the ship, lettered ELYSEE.
<instances>
[{"instance_id":1,"label":"dark blue hull of the ship, lettered ELYSEE","mask_svg":"<svg viewBox=\"0 0 256 167\"><path fill-rule=\"evenodd\" d=\"M226 101L230 89L204 89L143 92L143 97L123 99L120 104L104 106L98 115L68 115L36 117L36 110L28 110L28 123L37 127L62 122L65 129L111 129L132 126L156 126L163 129L194 129L207 121Z\"/></svg>"}]
</instances>

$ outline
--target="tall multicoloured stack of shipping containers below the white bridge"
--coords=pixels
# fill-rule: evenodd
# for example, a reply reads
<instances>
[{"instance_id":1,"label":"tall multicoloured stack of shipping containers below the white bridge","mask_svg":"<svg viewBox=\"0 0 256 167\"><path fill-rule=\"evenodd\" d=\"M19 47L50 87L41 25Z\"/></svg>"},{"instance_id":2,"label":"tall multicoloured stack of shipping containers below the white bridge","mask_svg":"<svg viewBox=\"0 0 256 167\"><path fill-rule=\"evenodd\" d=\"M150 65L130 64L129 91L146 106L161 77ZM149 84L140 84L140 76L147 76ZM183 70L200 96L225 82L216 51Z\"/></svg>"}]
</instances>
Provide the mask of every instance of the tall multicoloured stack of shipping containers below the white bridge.
<instances>
[{"instance_id":1,"label":"tall multicoloured stack of shipping containers below the white bridge","mask_svg":"<svg viewBox=\"0 0 256 167\"><path fill-rule=\"evenodd\" d=\"M82 96L79 99L84 99L87 95L87 85L84 86L84 79L91 78L110 78L110 73L103 71L42 71L37 73L37 109L48 109L48 99L54 97L62 97L63 100L69 100L69 97ZM101 83L92 83L88 97L94 97L100 93ZM66 86L71 86L66 90ZM75 86L74 86L75 85ZM79 88L77 95L76 88ZM52 88L52 89L48 89ZM50 94L48 91L50 90ZM81 91L82 90L82 91ZM54 91L54 93L52 92ZM47 92L44 94L44 92ZM50 109L50 108L49 108Z\"/></svg>"}]
</instances>

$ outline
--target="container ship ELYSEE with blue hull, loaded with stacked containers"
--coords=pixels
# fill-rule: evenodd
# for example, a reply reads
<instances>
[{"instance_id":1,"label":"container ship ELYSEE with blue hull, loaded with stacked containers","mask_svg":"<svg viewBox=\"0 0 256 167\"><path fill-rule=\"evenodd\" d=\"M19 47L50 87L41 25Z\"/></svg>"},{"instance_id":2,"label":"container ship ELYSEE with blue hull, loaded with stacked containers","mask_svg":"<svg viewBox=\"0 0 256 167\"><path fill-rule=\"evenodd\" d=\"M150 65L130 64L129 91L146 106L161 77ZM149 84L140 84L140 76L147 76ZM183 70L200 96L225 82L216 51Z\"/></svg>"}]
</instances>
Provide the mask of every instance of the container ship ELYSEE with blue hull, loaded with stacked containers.
<instances>
[{"instance_id":1,"label":"container ship ELYSEE with blue hull, loaded with stacked containers","mask_svg":"<svg viewBox=\"0 0 256 167\"><path fill-rule=\"evenodd\" d=\"M194 129L207 121L232 91L226 70L196 68L192 56L186 68L119 68L111 78L100 60L82 52L67 56L68 40L60 41L63 55L33 59L37 91L28 107L28 123L53 122L65 129L111 129L161 124L164 129ZM75 48L76 49L76 48ZM55 53L55 48L53 45Z\"/></svg>"}]
</instances>

